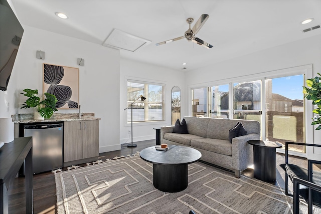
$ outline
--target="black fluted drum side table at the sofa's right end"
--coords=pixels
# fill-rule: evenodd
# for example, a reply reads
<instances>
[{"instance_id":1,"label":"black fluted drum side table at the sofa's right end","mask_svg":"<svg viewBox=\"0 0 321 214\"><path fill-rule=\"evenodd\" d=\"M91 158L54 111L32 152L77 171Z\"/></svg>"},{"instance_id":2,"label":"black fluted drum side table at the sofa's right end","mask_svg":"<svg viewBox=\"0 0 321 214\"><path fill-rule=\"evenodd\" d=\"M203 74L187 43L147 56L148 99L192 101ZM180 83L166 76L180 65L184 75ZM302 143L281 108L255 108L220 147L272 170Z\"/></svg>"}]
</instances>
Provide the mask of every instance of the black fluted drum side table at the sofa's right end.
<instances>
[{"instance_id":1,"label":"black fluted drum side table at the sofa's right end","mask_svg":"<svg viewBox=\"0 0 321 214\"><path fill-rule=\"evenodd\" d=\"M249 140L253 145L254 178L275 183L276 181L276 148L282 144L266 140Z\"/></svg>"}]
</instances>

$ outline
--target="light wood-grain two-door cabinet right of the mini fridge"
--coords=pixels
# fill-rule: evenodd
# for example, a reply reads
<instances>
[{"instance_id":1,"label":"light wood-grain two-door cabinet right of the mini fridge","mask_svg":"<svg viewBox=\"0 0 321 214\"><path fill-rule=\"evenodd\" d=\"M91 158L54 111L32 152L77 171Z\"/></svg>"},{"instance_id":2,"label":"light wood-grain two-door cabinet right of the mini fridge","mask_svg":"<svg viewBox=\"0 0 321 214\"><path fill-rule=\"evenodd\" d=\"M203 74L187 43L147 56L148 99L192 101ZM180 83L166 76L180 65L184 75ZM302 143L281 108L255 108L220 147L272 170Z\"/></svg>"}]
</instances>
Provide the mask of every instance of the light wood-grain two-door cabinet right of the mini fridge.
<instances>
[{"instance_id":1,"label":"light wood-grain two-door cabinet right of the mini fridge","mask_svg":"<svg viewBox=\"0 0 321 214\"><path fill-rule=\"evenodd\" d=\"M99 120L65 121L64 163L99 156Z\"/></svg>"}]
</instances>

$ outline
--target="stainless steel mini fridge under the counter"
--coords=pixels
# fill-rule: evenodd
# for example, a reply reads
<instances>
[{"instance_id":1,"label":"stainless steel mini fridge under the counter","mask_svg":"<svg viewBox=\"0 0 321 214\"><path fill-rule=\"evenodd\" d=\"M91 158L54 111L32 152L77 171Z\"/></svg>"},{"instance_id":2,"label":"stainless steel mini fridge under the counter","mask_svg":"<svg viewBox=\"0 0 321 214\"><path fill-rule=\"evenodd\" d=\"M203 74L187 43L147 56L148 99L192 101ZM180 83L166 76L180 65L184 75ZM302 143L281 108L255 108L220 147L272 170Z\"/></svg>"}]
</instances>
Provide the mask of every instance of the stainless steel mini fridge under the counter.
<instances>
[{"instance_id":1,"label":"stainless steel mini fridge under the counter","mask_svg":"<svg viewBox=\"0 0 321 214\"><path fill-rule=\"evenodd\" d=\"M64 123L26 124L24 136L32 136L33 173L63 167Z\"/></svg>"}]
</instances>

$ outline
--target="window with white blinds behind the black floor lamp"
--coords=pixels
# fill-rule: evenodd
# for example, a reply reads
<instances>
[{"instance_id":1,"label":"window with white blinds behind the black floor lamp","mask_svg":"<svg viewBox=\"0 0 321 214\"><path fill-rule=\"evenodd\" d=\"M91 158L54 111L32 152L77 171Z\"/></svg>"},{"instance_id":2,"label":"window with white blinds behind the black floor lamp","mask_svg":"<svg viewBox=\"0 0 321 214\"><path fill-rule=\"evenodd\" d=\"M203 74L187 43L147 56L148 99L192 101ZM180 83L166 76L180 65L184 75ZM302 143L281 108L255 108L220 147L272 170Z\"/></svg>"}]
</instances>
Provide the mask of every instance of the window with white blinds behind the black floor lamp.
<instances>
[{"instance_id":1,"label":"window with white blinds behind the black floor lamp","mask_svg":"<svg viewBox=\"0 0 321 214\"><path fill-rule=\"evenodd\" d=\"M164 121L164 93L164 84L127 80L127 123L131 112L133 122ZM141 101L140 96L146 99Z\"/></svg>"}]
</instances>

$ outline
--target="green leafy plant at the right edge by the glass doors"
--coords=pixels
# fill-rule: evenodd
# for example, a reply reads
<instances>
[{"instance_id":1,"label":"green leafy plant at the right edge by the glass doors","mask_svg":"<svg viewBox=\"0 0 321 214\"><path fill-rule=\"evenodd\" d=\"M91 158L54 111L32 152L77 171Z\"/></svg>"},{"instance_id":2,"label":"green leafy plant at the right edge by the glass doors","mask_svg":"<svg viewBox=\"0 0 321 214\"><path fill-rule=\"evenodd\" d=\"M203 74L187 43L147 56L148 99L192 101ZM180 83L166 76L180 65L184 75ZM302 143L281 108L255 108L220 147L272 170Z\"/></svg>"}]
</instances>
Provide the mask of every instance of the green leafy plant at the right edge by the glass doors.
<instances>
[{"instance_id":1,"label":"green leafy plant at the right edge by the glass doors","mask_svg":"<svg viewBox=\"0 0 321 214\"><path fill-rule=\"evenodd\" d=\"M320 77L321 74L317 73ZM314 77L306 80L306 86L303 86L304 98L307 100L312 100L312 104L316 107L313 109L313 122L311 125L319 124L315 130L321 129L321 82L319 82L319 77Z\"/></svg>"}]
</instances>

